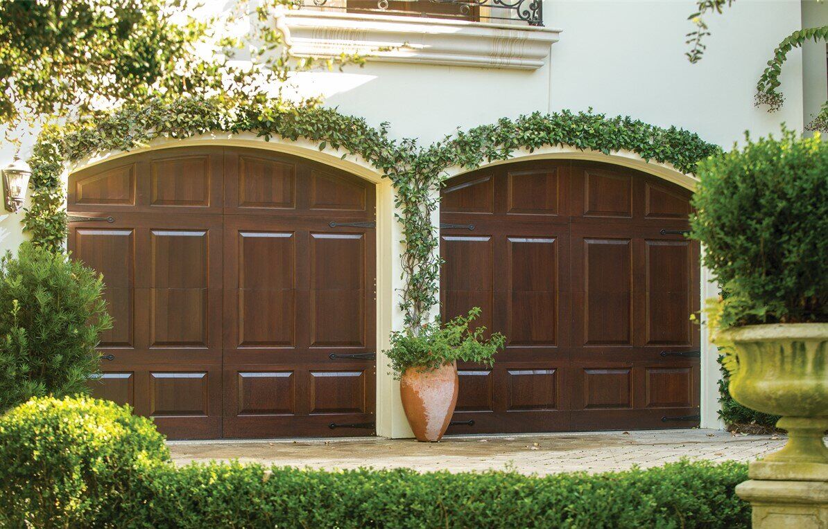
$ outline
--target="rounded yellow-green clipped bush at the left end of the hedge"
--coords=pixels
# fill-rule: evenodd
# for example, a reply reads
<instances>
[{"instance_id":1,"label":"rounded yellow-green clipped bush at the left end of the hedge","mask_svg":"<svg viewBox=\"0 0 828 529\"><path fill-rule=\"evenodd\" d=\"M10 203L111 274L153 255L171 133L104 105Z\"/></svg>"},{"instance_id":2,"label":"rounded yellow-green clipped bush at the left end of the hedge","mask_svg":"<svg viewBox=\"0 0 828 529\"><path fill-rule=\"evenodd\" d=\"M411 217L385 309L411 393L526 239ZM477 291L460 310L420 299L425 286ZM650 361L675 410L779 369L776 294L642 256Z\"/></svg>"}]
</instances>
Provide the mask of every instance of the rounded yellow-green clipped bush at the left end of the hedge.
<instances>
[{"instance_id":1,"label":"rounded yellow-green clipped bush at the left end of the hedge","mask_svg":"<svg viewBox=\"0 0 828 529\"><path fill-rule=\"evenodd\" d=\"M0 527L97 527L122 512L137 474L169 460L128 407L32 399L0 417Z\"/></svg>"}]
</instances>

